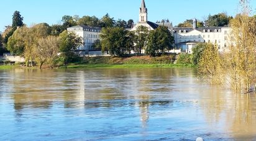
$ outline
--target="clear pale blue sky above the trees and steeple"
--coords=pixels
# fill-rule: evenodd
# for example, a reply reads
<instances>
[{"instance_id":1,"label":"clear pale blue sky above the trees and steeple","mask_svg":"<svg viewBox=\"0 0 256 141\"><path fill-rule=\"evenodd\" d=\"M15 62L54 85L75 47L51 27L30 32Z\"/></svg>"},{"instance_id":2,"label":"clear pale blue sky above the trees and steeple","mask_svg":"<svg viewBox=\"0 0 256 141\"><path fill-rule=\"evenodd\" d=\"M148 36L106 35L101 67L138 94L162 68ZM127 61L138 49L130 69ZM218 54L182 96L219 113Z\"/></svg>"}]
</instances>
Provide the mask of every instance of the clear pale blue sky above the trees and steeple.
<instances>
[{"instance_id":1,"label":"clear pale blue sky above the trees and steeple","mask_svg":"<svg viewBox=\"0 0 256 141\"><path fill-rule=\"evenodd\" d=\"M12 14L20 11L27 25L47 22L60 23L64 15L102 17L109 13L114 19L139 19L141 0L1 0L0 31L11 25ZM149 20L169 19L177 25L186 19L196 17L202 20L209 14L227 12L234 16L239 0L145 0ZM256 0L251 0L255 11Z\"/></svg>"}]
</instances>

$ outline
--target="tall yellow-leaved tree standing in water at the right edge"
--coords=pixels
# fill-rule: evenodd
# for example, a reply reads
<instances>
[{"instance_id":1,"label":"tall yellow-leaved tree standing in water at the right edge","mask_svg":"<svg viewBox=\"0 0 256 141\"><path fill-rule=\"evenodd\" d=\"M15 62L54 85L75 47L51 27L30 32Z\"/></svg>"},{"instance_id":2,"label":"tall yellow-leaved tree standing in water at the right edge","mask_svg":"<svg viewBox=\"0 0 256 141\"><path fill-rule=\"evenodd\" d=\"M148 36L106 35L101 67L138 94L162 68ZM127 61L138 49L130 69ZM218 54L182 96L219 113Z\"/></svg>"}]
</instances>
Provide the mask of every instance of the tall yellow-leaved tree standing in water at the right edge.
<instances>
[{"instance_id":1,"label":"tall yellow-leaved tree standing in water at the right edge","mask_svg":"<svg viewBox=\"0 0 256 141\"><path fill-rule=\"evenodd\" d=\"M256 75L256 19L250 16L249 1L240 1L240 11L231 20L231 52L225 60L230 70L231 86L236 90L250 91Z\"/></svg>"}]
</instances>

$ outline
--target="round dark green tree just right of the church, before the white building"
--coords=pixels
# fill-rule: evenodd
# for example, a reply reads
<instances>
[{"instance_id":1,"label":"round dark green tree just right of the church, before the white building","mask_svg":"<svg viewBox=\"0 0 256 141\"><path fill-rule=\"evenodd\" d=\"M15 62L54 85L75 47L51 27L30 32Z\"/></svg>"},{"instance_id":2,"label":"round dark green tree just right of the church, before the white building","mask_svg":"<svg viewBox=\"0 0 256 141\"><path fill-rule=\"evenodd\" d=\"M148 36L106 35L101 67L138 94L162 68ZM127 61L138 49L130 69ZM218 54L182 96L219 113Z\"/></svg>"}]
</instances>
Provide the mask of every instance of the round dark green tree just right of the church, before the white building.
<instances>
[{"instance_id":1,"label":"round dark green tree just right of the church, before the white building","mask_svg":"<svg viewBox=\"0 0 256 141\"><path fill-rule=\"evenodd\" d=\"M164 55L173 48L174 37L167 27L160 26L150 31L147 41L146 53L156 57Z\"/></svg>"}]
</instances>

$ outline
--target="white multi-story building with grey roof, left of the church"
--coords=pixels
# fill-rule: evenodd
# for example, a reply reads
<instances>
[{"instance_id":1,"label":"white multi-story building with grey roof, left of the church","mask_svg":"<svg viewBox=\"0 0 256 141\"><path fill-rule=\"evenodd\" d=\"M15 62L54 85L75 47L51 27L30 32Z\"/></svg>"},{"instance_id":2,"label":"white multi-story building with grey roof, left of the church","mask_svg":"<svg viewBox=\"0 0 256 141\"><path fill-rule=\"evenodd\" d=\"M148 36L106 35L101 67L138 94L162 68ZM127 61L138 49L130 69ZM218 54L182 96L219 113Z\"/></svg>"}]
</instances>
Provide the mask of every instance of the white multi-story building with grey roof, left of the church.
<instances>
[{"instance_id":1,"label":"white multi-story building with grey roof, left of the church","mask_svg":"<svg viewBox=\"0 0 256 141\"><path fill-rule=\"evenodd\" d=\"M100 39L101 28L89 27L86 25L76 25L68 28L68 32L75 32L76 35L82 37L83 45L78 47L78 51L88 53L90 50L94 50L93 43Z\"/></svg>"}]
</instances>

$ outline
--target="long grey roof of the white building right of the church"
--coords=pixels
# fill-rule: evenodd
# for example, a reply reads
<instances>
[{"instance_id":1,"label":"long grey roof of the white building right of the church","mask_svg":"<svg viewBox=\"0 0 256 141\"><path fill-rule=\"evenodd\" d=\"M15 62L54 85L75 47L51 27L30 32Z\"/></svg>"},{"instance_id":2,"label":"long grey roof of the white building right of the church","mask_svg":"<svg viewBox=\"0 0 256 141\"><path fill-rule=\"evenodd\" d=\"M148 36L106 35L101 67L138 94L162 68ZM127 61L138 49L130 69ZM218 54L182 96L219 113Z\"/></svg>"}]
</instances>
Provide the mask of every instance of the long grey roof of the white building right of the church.
<instances>
[{"instance_id":1,"label":"long grey roof of the white building right of the church","mask_svg":"<svg viewBox=\"0 0 256 141\"><path fill-rule=\"evenodd\" d=\"M214 32L214 30L219 30L222 29L222 27L198 27L195 30L198 30L199 32L203 32L203 30L205 30L206 32L208 30L210 30L210 32ZM181 30L181 32L183 32L184 30L186 30L186 32L191 32L192 30L194 30L193 27L173 27L173 30L175 33L178 33L179 30Z\"/></svg>"}]
</instances>

